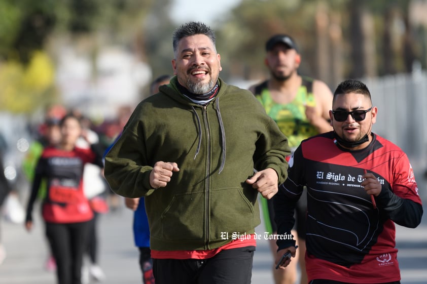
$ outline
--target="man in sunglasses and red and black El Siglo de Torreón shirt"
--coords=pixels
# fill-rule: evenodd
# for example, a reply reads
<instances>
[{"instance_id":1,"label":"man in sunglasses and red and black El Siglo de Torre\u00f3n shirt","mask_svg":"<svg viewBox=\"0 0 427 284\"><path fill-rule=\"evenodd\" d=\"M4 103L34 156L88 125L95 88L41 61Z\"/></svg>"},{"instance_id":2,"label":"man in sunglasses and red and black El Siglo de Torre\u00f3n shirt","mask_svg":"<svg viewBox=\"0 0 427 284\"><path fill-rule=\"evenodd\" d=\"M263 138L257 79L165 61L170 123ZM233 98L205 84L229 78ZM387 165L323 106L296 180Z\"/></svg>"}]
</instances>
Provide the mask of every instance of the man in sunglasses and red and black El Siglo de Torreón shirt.
<instances>
[{"instance_id":1,"label":"man in sunglasses and red and black El Siglo de Torre\u00f3n shirt","mask_svg":"<svg viewBox=\"0 0 427 284\"><path fill-rule=\"evenodd\" d=\"M338 85L329 113L333 131L304 140L289 161L274 198L278 234L291 231L306 186L309 283L400 283L395 223L415 228L423 213L409 159L371 132L377 108L362 82ZM277 245L276 262L295 255L295 241Z\"/></svg>"}]
</instances>

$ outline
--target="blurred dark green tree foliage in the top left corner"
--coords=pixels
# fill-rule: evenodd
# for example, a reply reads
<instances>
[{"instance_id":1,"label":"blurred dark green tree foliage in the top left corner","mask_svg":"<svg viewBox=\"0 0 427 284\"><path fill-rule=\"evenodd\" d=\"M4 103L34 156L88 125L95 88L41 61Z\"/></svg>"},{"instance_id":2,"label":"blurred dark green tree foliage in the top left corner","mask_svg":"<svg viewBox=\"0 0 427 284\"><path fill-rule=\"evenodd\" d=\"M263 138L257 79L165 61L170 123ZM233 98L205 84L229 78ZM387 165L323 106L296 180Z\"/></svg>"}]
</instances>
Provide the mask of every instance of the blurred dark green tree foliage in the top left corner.
<instances>
[{"instance_id":1,"label":"blurred dark green tree foliage in the top left corner","mask_svg":"<svg viewBox=\"0 0 427 284\"><path fill-rule=\"evenodd\" d=\"M0 1L0 58L28 62L43 49L49 35L79 35L100 30L118 35L135 32L153 0L2 0Z\"/></svg>"}]
</instances>

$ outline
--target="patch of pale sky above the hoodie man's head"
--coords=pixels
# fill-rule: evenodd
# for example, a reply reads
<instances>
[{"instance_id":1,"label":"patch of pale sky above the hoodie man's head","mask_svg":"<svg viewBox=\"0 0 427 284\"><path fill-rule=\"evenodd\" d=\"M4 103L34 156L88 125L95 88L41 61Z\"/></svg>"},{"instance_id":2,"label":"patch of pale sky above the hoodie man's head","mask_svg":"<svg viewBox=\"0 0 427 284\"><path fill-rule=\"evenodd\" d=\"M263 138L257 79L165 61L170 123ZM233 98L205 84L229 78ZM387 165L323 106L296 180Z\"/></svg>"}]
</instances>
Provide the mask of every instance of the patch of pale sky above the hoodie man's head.
<instances>
[{"instance_id":1,"label":"patch of pale sky above the hoodie man's head","mask_svg":"<svg viewBox=\"0 0 427 284\"><path fill-rule=\"evenodd\" d=\"M234 8L241 0L216 0L201 2L197 0L173 0L170 16L176 24L186 21L200 21L208 25Z\"/></svg>"}]
</instances>

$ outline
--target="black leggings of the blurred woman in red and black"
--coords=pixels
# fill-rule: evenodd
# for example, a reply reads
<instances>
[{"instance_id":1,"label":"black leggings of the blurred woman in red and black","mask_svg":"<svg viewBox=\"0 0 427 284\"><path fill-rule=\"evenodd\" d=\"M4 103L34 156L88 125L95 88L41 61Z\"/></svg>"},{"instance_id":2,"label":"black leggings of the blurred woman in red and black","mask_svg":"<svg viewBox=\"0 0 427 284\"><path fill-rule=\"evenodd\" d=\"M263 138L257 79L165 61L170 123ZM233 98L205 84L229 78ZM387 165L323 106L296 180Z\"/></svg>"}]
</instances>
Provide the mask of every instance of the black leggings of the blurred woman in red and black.
<instances>
[{"instance_id":1,"label":"black leggings of the blurred woman in red and black","mask_svg":"<svg viewBox=\"0 0 427 284\"><path fill-rule=\"evenodd\" d=\"M87 247L90 222L46 222L46 236L56 261L58 284L81 284L83 253Z\"/></svg>"}]
</instances>

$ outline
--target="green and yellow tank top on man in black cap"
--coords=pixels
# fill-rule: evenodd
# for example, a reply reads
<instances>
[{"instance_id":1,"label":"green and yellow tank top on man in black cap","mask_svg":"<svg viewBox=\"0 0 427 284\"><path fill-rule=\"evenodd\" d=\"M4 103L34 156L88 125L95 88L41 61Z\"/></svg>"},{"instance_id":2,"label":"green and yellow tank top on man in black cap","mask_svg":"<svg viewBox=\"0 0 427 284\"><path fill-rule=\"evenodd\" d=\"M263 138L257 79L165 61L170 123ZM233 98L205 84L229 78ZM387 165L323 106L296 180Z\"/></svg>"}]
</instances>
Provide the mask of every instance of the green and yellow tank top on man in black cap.
<instances>
[{"instance_id":1,"label":"green and yellow tank top on man in black cap","mask_svg":"<svg viewBox=\"0 0 427 284\"><path fill-rule=\"evenodd\" d=\"M288 137L289 146L297 148L302 140L317 135L318 132L310 124L305 115L305 106L315 106L313 80L303 77L301 87L295 99L288 104L273 101L267 88L267 81L255 88L255 96L264 106L267 114L276 121L281 132Z\"/></svg>"}]
</instances>

